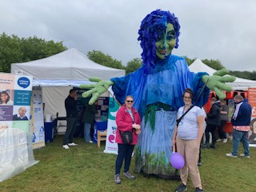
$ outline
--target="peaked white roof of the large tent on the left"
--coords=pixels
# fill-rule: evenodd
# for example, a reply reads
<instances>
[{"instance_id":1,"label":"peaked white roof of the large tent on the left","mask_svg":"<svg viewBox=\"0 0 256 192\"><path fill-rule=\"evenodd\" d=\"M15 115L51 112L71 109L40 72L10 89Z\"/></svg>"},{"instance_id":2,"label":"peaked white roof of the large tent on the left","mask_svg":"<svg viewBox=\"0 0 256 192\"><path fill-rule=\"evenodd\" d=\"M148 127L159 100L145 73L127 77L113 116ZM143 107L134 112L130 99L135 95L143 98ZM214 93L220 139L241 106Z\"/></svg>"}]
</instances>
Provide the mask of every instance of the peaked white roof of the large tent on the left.
<instances>
[{"instance_id":1,"label":"peaked white roof of the large tent on the left","mask_svg":"<svg viewBox=\"0 0 256 192\"><path fill-rule=\"evenodd\" d=\"M47 80L88 80L90 77L99 77L107 81L125 75L124 70L99 65L75 48L48 58L11 64L11 73L18 71L35 79Z\"/></svg>"}]
</instances>

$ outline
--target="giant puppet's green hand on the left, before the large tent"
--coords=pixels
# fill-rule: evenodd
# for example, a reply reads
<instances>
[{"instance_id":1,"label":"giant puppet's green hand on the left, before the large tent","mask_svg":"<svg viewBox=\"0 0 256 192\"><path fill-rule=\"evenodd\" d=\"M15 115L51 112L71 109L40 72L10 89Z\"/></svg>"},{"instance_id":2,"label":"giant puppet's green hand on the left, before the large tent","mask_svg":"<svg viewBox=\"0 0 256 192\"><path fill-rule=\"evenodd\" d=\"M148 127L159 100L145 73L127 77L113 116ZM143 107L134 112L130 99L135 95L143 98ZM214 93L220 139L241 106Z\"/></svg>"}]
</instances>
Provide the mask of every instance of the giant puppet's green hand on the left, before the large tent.
<instances>
[{"instance_id":1,"label":"giant puppet's green hand on the left, before the large tent","mask_svg":"<svg viewBox=\"0 0 256 192\"><path fill-rule=\"evenodd\" d=\"M81 89L90 89L86 92L82 93L83 98L89 97L91 94L94 94L92 98L90 98L89 105L93 105L94 102L98 99L98 97L105 93L110 86L114 85L114 82L111 81L102 81L101 78L89 78L90 82L96 82L94 84L82 84L80 86Z\"/></svg>"}]
</instances>

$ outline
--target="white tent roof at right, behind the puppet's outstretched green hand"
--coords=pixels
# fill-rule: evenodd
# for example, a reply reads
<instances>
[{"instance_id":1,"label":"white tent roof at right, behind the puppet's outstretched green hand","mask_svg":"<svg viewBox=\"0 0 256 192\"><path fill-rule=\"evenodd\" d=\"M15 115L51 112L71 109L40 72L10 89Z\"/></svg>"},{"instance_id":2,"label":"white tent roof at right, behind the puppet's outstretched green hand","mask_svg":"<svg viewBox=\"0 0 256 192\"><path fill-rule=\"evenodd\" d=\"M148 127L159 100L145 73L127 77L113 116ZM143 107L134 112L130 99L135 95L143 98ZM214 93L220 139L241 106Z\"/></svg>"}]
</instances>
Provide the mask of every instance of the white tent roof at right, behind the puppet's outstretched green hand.
<instances>
[{"instance_id":1,"label":"white tent roof at right, behind the puppet's outstretched green hand","mask_svg":"<svg viewBox=\"0 0 256 192\"><path fill-rule=\"evenodd\" d=\"M197 58L190 66L190 71L194 73L206 72L213 75L216 70L206 66L199 58ZM234 82L227 83L233 87L233 90L248 90L249 87L256 87L256 81L248 80L245 78L236 78Z\"/></svg>"}]
</instances>

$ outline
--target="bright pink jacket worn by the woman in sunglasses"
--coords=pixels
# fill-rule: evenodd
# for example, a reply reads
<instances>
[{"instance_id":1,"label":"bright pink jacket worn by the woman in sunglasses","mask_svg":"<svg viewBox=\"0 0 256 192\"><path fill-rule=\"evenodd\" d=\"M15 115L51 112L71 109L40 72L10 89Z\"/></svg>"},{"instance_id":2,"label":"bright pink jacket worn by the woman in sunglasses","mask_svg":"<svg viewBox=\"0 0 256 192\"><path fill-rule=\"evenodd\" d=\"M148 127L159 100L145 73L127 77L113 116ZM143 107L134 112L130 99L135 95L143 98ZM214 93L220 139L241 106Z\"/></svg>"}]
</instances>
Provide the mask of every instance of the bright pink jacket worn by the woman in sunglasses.
<instances>
[{"instance_id":1,"label":"bright pink jacket worn by the woman in sunglasses","mask_svg":"<svg viewBox=\"0 0 256 192\"><path fill-rule=\"evenodd\" d=\"M134 114L134 122L136 124L141 125L141 118L138 114L138 111L134 109L134 107L131 109ZM133 119L130 117L130 114L128 110L126 109L126 106L121 106L121 108L118 110L117 116L115 117L115 122L117 123L118 129L117 134L115 138L115 142L118 142L122 144L122 138L119 133L119 130L121 130L121 133L123 131L132 131L133 132L133 142L130 143L131 145L135 145L138 142L138 135L135 133L135 129L133 126Z\"/></svg>"}]
</instances>

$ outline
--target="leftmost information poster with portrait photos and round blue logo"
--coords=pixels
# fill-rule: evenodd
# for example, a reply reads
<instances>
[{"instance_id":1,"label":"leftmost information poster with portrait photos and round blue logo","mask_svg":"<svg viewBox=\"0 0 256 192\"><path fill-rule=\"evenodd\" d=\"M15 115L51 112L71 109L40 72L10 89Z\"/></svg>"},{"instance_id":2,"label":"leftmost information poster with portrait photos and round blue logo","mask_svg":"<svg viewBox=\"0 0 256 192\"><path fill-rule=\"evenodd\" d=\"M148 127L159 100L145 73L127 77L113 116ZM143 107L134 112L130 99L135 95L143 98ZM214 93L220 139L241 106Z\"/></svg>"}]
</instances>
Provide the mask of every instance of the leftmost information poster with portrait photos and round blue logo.
<instances>
[{"instance_id":1,"label":"leftmost information poster with portrait photos and round blue logo","mask_svg":"<svg viewBox=\"0 0 256 192\"><path fill-rule=\"evenodd\" d=\"M32 77L1 73L0 130L18 128L30 133Z\"/></svg>"}]
</instances>

